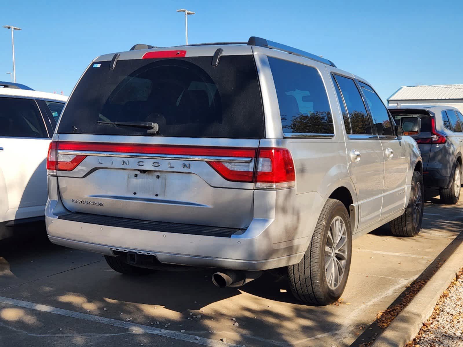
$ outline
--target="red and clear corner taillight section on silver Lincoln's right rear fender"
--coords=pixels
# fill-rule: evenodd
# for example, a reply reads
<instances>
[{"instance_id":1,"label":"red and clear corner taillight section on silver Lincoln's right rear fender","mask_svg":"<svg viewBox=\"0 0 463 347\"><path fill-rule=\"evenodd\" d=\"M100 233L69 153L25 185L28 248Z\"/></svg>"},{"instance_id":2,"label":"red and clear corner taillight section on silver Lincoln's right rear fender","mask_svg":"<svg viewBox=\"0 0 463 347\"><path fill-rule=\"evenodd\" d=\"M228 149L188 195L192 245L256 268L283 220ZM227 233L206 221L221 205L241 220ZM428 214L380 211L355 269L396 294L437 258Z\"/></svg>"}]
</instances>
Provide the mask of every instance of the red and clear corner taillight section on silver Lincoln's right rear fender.
<instances>
[{"instance_id":1,"label":"red and clear corner taillight section on silver Lincoln's right rear fender","mask_svg":"<svg viewBox=\"0 0 463 347\"><path fill-rule=\"evenodd\" d=\"M294 187L295 180L294 162L288 149L259 149L256 163L256 188L290 188Z\"/></svg>"}]
</instances>

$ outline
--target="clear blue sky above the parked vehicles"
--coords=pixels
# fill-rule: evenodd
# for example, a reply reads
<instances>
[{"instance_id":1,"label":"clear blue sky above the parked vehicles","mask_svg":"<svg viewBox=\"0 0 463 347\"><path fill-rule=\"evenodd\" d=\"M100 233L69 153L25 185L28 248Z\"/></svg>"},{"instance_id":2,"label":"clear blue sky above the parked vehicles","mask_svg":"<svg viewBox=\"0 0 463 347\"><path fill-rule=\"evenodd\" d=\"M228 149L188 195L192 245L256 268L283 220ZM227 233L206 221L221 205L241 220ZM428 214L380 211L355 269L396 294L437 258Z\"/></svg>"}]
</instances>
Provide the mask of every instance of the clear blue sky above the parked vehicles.
<instances>
[{"instance_id":1,"label":"clear blue sky above the parked vehicles","mask_svg":"<svg viewBox=\"0 0 463 347\"><path fill-rule=\"evenodd\" d=\"M69 95L88 63L135 43L183 44L265 37L332 60L385 100L400 86L463 83L463 1L1 1L15 25L17 82ZM12 71L0 27L0 81Z\"/></svg>"}]
</instances>

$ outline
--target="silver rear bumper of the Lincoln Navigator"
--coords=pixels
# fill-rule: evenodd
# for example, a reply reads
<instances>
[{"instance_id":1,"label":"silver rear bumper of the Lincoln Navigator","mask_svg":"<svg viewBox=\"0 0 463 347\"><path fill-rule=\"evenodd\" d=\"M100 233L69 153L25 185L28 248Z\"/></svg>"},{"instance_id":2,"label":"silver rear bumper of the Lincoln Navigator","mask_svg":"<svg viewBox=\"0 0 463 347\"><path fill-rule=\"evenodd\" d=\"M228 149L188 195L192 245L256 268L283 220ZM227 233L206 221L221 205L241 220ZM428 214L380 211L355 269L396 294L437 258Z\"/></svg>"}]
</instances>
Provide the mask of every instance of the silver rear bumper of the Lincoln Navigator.
<instances>
[{"instance_id":1,"label":"silver rear bumper of the Lincoln Navigator","mask_svg":"<svg viewBox=\"0 0 463 347\"><path fill-rule=\"evenodd\" d=\"M218 237L59 218L66 214L59 200L48 200L45 222L53 243L106 255L118 250L152 254L161 263L186 266L250 271L288 266L301 260L311 236L275 242L281 229L267 218L254 218L244 232Z\"/></svg>"}]
</instances>

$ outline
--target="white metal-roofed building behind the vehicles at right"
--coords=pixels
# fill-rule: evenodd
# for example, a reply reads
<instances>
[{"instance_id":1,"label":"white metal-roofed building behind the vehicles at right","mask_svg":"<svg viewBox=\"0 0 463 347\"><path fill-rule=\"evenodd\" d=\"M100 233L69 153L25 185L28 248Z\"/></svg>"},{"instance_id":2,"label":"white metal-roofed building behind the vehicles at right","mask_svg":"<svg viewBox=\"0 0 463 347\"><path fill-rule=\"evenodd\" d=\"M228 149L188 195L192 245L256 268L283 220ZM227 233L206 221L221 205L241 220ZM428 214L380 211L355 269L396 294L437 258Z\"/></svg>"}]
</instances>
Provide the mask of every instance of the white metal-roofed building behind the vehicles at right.
<instances>
[{"instance_id":1,"label":"white metal-roofed building behind the vehicles at right","mask_svg":"<svg viewBox=\"0 0 463 347\"><path fill-rule=\"evenodd\" d=\"M463 84L400 87L388 105L448 105L463 112Z\"/></svg>"}]
</instances>

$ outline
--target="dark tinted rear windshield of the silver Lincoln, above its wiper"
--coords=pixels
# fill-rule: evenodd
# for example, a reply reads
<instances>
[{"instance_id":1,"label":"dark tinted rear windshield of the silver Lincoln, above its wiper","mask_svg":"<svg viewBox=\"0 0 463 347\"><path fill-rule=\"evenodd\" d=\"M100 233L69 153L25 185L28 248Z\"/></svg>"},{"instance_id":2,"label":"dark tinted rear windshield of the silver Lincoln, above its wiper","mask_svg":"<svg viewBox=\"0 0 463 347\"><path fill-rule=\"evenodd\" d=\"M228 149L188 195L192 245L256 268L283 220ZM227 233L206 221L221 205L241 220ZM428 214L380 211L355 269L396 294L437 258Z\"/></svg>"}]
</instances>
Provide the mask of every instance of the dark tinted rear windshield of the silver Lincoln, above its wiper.
<instances>
[{"instance_id":1,"label":"dark tinted rear windshield of the silver Lincoln, above its wiper","mask_svg":"<svg viewBox=\"0 0 463 347\"><path fill-rule=\"evenodd\" d=\"M264 137L254 58L212 56L95 62L63 111L57 133L147 135L108 124L154 122L159 136Z\"/></svg>"}]
</instances>

